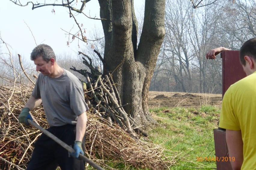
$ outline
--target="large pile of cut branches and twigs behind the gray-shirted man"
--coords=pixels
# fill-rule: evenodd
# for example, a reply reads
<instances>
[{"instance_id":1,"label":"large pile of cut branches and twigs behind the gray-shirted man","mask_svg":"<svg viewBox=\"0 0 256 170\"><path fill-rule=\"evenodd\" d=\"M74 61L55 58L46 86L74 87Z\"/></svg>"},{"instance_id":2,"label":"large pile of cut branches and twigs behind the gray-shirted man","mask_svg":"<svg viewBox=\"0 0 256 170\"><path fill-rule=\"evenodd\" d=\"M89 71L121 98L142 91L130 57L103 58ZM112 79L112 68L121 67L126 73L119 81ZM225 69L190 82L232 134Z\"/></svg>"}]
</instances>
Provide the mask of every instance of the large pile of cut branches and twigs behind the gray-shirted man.
<instances>
[{"instance_id":1,"label":"large pile of cut branches and twigs behind the gray-shirted man","mask_svg":"<svg viewBox=\"0 0 256 170\"><path fill-rule=\"evenodd\" d=\"M90 110L85 156L105 169L115 169L113 167L118 168L118 165L123 166L118 169L130 166L133 169L169 169L176 162L175 154L164 156L165 149L145 137L136 122L122 109L111 75L102 78L99 70L91 63L87 64L91 67L90 73L72 68L87 79L84 96ZM20 124L17 118L30 97L36 76L23 69L21 60L23 71L14 68L12 63L8 66L12 73L0 75L0 169L26 169L41 132L31 125ZM42 105L30 113L35 122L48 128ZM140 129L141 133L134 129ZM92 168L87 165L86 169Z\"/></svg>"}]
</instances>

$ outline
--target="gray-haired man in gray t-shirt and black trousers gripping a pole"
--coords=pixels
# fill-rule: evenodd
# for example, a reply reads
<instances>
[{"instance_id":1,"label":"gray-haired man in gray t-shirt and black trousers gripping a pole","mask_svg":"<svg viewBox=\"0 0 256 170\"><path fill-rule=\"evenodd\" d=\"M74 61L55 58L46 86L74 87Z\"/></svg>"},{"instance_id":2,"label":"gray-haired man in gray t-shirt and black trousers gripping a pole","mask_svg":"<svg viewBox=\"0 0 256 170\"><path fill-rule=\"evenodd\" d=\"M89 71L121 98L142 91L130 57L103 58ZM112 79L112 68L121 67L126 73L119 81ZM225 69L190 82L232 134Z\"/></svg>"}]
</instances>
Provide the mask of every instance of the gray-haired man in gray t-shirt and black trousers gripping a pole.
<instances>
[{"instance_id":1,"label":"gray-haired man in gray t-shirt and black trousers gripping a pole","mask_svg":"<svg viewBox=\"0 0 256 170\"><path fill-rule=\"evenodd\" d=\"M21 110L19 122L28 125L27 119L32 120L29 111L42 103L50 126L47 130L71 145L75 152L69 153L42 134L35 143L27 170L56 169L57 166L61 169L84 170L85 162L77 159L80 153L84 154L86 111L89 109L84 101L82 84L75 75L56 63L49 45L35 47L30 58L36 65L36 71L41 74Z\"/></svg>"}]
</instances>

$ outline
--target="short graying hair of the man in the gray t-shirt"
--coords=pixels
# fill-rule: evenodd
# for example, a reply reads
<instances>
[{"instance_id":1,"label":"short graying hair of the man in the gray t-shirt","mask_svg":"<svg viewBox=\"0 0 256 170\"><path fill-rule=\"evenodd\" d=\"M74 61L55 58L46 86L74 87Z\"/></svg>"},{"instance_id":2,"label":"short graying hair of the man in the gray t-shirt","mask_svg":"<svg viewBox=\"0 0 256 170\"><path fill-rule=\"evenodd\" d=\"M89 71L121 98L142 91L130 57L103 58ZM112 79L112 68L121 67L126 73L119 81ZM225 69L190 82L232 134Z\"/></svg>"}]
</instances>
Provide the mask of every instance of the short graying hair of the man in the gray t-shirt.
<instances>
[{"instance_id":1,"label":"short graying hair of the man in the gray t-shirt","mask_svg":"<svg viewBox=\"0 0 256 170\"><path fill-rule=\"evenodd\" d=\"M56 56L53 52L53 49L46 44L40 44L37 47L35 47L30 55L30 59L33 61L40 56L42 56L46 62L49 62L51 58L56 60Z\"/></svg>"}]
</instances>

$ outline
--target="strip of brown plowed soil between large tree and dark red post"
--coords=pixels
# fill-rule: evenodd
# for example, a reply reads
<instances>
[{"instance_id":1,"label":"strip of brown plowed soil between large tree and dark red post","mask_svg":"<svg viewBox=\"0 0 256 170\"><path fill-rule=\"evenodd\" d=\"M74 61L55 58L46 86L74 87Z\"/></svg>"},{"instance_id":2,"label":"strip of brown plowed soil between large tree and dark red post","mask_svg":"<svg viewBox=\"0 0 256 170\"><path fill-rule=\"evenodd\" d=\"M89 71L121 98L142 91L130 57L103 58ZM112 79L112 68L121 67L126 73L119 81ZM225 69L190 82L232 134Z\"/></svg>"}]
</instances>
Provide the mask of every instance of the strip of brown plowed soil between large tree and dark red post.
<instances>
[{"instance_id":1,"label":"strip of brown plowed soil between large tree and dark red post","mask_svg":"<svg viewBox=\"0 0 256 170\"><path fill-rule=\"evenodd\" d=\"M182 93L182 92L154 92L148 95L149 108L154 107L193 107L202 105L221 106L221 94Z\"/></svg>"}]
</instances>

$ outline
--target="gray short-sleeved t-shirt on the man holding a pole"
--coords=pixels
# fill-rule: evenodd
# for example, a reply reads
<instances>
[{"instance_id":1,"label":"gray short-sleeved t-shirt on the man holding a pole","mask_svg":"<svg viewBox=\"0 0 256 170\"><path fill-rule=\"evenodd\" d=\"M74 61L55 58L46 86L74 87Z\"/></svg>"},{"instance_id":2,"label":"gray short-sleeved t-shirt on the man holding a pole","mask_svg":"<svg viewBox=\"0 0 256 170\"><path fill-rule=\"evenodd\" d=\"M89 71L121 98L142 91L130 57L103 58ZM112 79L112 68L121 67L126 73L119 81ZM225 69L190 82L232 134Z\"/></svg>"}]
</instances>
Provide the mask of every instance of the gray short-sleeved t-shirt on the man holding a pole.
<instances>
[{"instance_id":1,"label":"gray short-sleeved t-shirt on the man holding a pole","mask_svg":"<svg viewBox=\"0 0 256 170\"><path fill-rule=\"evenodd\" d=\"M81 82L71 72L64 70L58 78L39 74L32 96L42 99L50 127L76 124L76 118L89 110L84 101Z\"/></svg>"}]
</instances>

